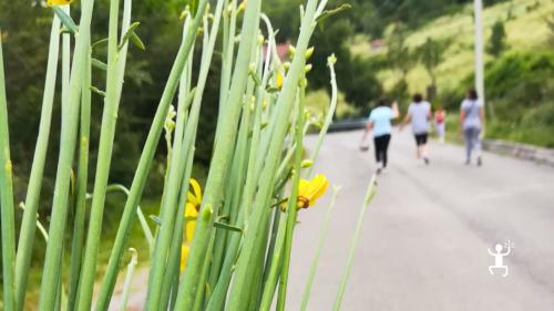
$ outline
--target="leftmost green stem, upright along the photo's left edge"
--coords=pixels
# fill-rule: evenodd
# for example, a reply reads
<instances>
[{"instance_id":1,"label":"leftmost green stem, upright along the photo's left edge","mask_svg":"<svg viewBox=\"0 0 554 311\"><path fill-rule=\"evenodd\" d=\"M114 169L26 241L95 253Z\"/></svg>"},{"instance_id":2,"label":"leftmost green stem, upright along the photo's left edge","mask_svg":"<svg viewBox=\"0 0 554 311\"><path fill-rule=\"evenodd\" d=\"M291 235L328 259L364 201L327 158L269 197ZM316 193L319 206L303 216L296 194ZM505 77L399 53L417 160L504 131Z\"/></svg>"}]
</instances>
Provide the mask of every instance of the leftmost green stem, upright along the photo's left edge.
<instances>
[{"instance_id":1,"label":"leftmost green stem, upright along the photo's left edge","mask_svg":"<svg viewBox=\"0 0 554 311\"><path fill-rule=\"evenodd\" d=\"M0 38L2 32L0 30ZM0 215L2 217L2 280L3 308L16 310L14 259L16 224L13 216L13 182L8 132L8 101L3 72L2 43L0 40Z\"/></svg>"}]
</instances>

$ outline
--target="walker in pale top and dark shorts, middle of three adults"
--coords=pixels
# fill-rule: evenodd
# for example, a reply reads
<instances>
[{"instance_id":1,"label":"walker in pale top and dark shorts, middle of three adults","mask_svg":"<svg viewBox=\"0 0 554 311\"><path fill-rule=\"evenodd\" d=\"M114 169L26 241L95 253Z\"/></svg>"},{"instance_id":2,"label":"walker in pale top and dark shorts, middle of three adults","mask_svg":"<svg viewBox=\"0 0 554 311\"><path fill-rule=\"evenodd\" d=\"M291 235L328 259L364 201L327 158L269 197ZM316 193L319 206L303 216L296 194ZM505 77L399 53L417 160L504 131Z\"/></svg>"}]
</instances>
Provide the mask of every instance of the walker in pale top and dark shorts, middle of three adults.
<instances>
[{"instance_id":1,"label":"walker in pale top and dark shorts, middle of three adults","mask_svg":"<svg viewBox=\"0 0 554 311\"><path fill-rule=\"evenodd\" d=\"M425 164L429 164L427 142L431 118L431 104L423 101L421 94L416 94L413 95L413 103L408 107L408 114L400 127L400 129L402 129L406 125L411 123L413 136L416 138L416 156L418 159L423 158Z\"/></svg>"}]
</instances>

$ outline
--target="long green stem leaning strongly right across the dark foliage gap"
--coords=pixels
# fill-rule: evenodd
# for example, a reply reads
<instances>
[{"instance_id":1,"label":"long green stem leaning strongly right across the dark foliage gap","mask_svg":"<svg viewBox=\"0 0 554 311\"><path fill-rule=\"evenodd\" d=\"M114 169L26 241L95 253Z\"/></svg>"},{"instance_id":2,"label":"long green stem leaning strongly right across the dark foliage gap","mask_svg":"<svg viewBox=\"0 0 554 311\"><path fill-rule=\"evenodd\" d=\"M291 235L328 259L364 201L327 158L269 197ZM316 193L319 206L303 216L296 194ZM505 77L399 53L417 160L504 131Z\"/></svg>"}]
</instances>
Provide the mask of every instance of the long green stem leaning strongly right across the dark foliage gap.
<instances>
[{"instance_id":1,"label":"long green stem leaning strongly right across the dark foliage gap","mask_svg":"<svg viewBox=\"0 0 554 311\"><path fill-rule=\"evenodd\" d=\"M136 215L136 207L138 206L138 201L141 199L142 193L144 190L148 177L147 173L152 166L152 160L154 159L156 146L160 142L160 136L162 134L165 123L165 117L167 115L167 108L171 102L173 101L173 96L177 89L181 74L183 72L186 61L188 60L188 55L191 54L193 42L195 40L196 31L198 30L201 21L202 21L202 13L198 13L194 20L192 31L186 34L185 40L183 40L179 46L179 51L177 52L177 58L170 73L170 77L167 79L167 84L164 89L164 93L160 101L160 105L156 110L152 127L148 132L148 136L146 138L143 153L138 162L133 184L131 185L130 196L125 203L122 220L120 222L117 235L115 236L115 242L112 249L112 253L110 256L110 261L107 263L106 273L102 281L99 300L96 301L98 303L96 310L99 311L107 310L109 302L115 286L117 269L121 262L121 258L123 256L125 242L129 238L129 230Z\"/></svg>"}]
</instances>

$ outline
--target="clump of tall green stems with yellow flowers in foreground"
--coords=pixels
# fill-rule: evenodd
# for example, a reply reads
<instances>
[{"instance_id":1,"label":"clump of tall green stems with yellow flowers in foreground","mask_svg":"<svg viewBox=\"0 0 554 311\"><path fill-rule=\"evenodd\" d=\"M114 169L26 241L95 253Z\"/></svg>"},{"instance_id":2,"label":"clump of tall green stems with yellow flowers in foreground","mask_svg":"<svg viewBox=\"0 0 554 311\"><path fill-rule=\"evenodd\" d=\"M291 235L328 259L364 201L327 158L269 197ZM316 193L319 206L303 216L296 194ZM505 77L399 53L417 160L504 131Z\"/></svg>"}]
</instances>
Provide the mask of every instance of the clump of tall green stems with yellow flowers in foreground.
<instances>
[{"instance_id":1,"label":"clump of tall green stems with yellow flowers in foreground","mask_svg":"<svg viewBox=\"0 0 554 311\"><path fill-rule=\"evenodd\" d=\"M277 53L277 32L263 13L261 0L188 1L182 14L181 45L127 188L110 185L109 176L117 139L117 112L120 105L126 104L122 92L127 53L132 45L145 49L137 35L140 23L132 22L132 0L122 3L111 0L107 38L91 44L94 0L82 0L79 24L71 18L68 2L48 1L53 17L48 69L18 240L9 111L0 62L4 310L32 308L25 305L25 293L35 230L44 231L37 211L45 198L52 200L52 214L48 236L43 232L47 251L38 310L107 310L119 276L123 274L126 249L131 250L132 258L124 277L120 310L125 310L133 294L131 284L137 262L148 269L148 282L143 289L144 310L244 311L269 310L271 305L285 310L298 214L310 212L309 208L330 184L322 175L314 176L312 169L337 106L337 60L334 55L328 60L329 108L325 115L315 116L305 103L307 73L311 70L309 61L317 49L309 48L309 42L317 24L340 10L327 11L327 0L307 0L300 8L301 27L296 46L289 49L290 63L284 63ZM94 52L95 46L105 43L107 60L104 62ZM222 53L216 53L216 49ZM58 91L60 54L62 86ZM222 60L219 112L212 163L202 187L194 179L193 165L197 139L202 139L199 112L216 56ZM93 79L93 66L105 71L105 91L92 85L92 81L98 81ZM193 68L199 69L197 75ZM55 186L53 194L41 197L57 91L62 108ZM98 146L90 146L92 92L104 102ZM310 128L318 128L319 133L315 152L306 158L304 142ZM138 205L162 137L167 147L164 187L157 214L147 218ZM99 155L93 175L89 172L91 148L98 148ZM91 194L88 193L90 179L93 180ZM105 263L98 258L104 207L112 191L124 193L126 201L113 243L105 242L110 245L111 255L105 271L100 274L98 268ZM359 224L369 199L368 195ZM68 224L70 215L72 224ZM326 217L312 262L302 309L317 271L329 217ZM138 252L129 245L134 226L142 228L150 247L147 251ZM65 243L70 232L71 242ZM358 235L359 230L356 239ZM340 305L355 246L335 309ZM69 265L64 255L70 259ZM99 291L94 294L98 280Z\"/></svg>"}]
</instances>

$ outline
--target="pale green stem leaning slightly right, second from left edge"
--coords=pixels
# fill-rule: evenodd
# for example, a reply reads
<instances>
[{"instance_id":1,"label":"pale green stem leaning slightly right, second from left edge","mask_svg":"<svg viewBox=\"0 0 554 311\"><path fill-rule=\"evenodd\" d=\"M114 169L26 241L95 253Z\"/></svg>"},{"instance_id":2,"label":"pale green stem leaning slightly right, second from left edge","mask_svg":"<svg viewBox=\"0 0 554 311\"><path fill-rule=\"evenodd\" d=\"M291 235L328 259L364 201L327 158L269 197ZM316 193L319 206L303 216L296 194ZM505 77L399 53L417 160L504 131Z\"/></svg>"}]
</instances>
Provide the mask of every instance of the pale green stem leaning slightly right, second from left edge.
<instances>
[{"instance_id":1,"label":"pale green stem leaning slightly right, second from left edge","mask_svg":"<svg viewBox=\"0 0 554 311\"><path fill-rule=\"evenodd\" d=\"M39 134L37 136L37 146L31 166L31 175L29 177L29 187L25 196L25 210L23 211L23 219L19 234L18 253L16 258L16 310L23 309L29 267L31 265L31 252L37 228L37 210L39 208L42 176L49 142L48 137L50 135L50 124L52 120L58 54L60 46L59 33L60 20L55 17L55 14L53 14Z\"/></svg>"}]
</instances>

